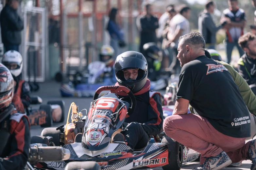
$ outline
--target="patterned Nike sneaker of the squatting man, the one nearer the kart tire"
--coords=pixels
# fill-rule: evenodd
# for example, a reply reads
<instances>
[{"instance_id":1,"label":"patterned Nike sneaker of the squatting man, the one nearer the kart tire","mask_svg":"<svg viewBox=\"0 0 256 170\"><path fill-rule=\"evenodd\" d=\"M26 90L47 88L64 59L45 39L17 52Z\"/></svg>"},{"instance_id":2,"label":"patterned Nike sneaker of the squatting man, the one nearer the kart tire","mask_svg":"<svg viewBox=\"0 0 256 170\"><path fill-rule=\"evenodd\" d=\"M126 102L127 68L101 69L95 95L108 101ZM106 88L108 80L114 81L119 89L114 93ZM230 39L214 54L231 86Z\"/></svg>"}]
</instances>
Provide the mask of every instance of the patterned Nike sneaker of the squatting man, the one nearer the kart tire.
<instances>
[{"instance_id":1,"label":"patterned Nike sneaker of the squatting man, the one nearer the kart tire","mask_svg":"<svg viewBox=\"0 0 256 170\"><path fill-rule=\"evenodd\" d=\"M219 170L229 166L232 163L226 152L222 151L217 156L206 158L205 162L193 168L193 170Z\"/></svg>"}]
</instances>

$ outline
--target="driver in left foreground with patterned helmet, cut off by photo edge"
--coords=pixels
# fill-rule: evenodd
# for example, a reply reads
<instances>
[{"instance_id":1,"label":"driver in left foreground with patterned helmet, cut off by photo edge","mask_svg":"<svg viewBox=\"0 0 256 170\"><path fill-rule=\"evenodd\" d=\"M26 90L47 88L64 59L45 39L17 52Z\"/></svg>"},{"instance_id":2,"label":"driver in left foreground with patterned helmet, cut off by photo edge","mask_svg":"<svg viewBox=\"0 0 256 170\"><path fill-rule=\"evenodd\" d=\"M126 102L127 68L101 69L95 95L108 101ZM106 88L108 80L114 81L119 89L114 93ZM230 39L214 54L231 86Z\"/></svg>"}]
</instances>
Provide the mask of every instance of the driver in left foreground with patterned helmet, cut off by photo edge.
<instances>
[{"instance_id":1,"label":"driver in left foreground with patterned helmet, cut off by photo edge","mask_svg":"<svg viewBox=\"0 0 256 170\"><path fill-rule=\"evenodd\" d=\"M0 64L0 169L23 170L28 160L30 125L25 114L11 105L14 80L8 68Z\"/></svg>"}]
</instances>

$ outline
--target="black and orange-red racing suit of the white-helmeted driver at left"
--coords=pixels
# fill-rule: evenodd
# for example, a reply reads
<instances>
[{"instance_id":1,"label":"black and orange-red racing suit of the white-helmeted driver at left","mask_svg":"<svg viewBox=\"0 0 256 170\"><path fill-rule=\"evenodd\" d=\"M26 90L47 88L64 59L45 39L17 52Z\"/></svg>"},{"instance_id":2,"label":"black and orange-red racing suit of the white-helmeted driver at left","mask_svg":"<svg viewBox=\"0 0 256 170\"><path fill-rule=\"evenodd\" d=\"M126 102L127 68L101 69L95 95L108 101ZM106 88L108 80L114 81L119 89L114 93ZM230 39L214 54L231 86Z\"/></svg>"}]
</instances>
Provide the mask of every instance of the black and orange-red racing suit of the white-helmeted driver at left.
<instances>
[{"instance_id":1,"label":"black and orange-red racing suit of the white-helmeted driver at left","mask_svg":"<svg viewBox=\"0 0 256 170\"><path fill-rule=\"evenodd\" d=\"M27 107L30 105L30 88L25 80L20 79L21 75L18 77L12 76L16 82L15 91L13 94L12 103L20 113L25 113ZM28 114L28 112L27 112Z\"/></svg>"}]
</instances>

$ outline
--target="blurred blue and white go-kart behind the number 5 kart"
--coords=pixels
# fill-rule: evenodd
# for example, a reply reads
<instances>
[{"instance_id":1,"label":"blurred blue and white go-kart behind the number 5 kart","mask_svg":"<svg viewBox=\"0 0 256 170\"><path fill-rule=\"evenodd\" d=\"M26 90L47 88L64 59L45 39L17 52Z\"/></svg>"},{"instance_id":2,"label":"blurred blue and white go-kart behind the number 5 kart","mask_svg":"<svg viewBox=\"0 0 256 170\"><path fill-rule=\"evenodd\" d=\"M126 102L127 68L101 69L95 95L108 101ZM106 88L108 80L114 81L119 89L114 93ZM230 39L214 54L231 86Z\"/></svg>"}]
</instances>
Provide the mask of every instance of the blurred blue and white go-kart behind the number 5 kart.
<instances>
[{"instance_id":1,"label":"blurred blue and white go-kart behind the number 5 kart","mask_svg":"<svg viewBox=\"0 0 256 170\"><path fill-rule=\"evenodd\" d=\"M116 82L112 67L106 67L104 62L95 61L88 65L88 70L81 74L77 72L69 77L68 83L60 86L62 97L90 97L101 86L113 85Z\"/></svg>"}]
</instances>

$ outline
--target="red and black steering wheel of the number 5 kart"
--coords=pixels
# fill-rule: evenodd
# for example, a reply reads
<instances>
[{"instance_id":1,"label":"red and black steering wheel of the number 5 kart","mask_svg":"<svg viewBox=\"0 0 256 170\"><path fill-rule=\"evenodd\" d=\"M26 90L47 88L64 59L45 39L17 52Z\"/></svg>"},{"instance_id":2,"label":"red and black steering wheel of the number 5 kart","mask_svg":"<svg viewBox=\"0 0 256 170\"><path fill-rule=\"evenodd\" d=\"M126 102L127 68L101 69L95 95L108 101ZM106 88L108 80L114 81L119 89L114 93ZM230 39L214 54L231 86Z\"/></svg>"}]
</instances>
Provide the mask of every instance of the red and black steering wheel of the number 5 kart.
<instances>
[{"instance_id":1,"label":"red and black steering wheel of the number 5 kart","mask_svg":"<svg viewBox=\"0 0 256 170\"><path fill-rule=\"evenodd\" d=\"M128 108L128 111L127 111L128 116L130 116L134 112L135 107L136 107L136 98L135 98L134 94L130 91L130 89L128 89L127 87L125 87L125 86L102 86L102 87L98 88L96 90L96 92L94 93L93 100L98 99L99 94L102 91L110 91L111 93L115 93L115 94L117 91L125 92L126 94L128 94L128 96L131 99L131 106Z\"/></svg>"}]
</instances>

